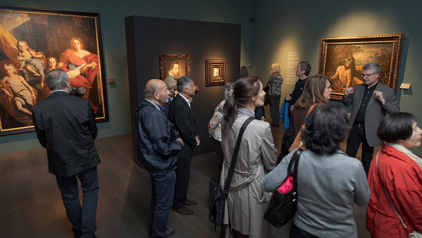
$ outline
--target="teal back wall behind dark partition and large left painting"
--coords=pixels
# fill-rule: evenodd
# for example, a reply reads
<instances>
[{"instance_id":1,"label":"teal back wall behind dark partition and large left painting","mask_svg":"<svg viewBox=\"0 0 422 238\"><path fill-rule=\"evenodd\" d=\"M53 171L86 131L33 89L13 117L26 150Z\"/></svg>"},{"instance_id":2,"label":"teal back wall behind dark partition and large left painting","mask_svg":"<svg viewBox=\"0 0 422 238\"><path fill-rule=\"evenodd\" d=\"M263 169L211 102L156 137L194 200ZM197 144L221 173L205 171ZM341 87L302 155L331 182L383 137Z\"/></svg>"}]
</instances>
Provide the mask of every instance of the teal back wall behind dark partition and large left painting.
<instances>
[{"instance_id":1,"label":"teal back wall behind dark partition and large left painting","mask_svg":"<svg viewBox=\"0 0 422 238\"><path fill-rule=\"evenodd\" d=\"M106 78L114 78L116 84L107 84L109 122L98 123L98 137L107 137L131 132L129 107L129 86L127 74L126 37L124 18L127 16L155 16L173 19L226 22L242 24L241 62L250 62L252 53L252 0L200 2L194 0L178 1L112 1L112 0L74 0L71 3L60 1L11 1L3 0L0 5L56 9L62 11L83 11L100 14L103 38L103 52ZM218 6L218 7L216 7ZM218 10L218 11L217 11ZM192 35L195 32L179 32L179 26L162 29L161 37L177 37L179 34ZM149 32L143 32L148 35ZM188 52L176 54L189 54ZM157 71L160 70L157 55ZM192 60L192 59L191 59ZM192 75L194 76L194 75ZM195 76L194 76L195 77ZM205 76L204 76L205 77ZM222 89L221 89L222 90ZM221 94L219 93L219 97ZM212 116L212 112L210 112ZM41 147L35 132L0 136L0 154L24 149Z\"/></svg>"}]
</instances>

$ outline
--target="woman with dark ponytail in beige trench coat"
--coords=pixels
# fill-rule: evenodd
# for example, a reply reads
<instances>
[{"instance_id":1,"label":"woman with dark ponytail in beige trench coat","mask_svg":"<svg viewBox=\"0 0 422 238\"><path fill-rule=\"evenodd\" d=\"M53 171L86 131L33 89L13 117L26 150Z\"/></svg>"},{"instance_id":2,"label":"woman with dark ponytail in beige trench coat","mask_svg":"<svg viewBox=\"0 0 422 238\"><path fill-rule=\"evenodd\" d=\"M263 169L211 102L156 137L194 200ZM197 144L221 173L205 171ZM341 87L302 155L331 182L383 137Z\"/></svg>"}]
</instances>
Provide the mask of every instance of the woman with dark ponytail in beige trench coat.
<instances>
[{"instance_id":1,"label":"woman with dark ponytail in beige trench coat","mask_svg":"<svg viewBox=\"0 0 422 238\"><path fill-rule=\"evenodd\" d=\"M248 76L236 81L233 95L226 100L221 121L225 157L220 178L222 189L240 128L249 116L254 117L255 107L264 104L264 95L261 78ZM220 237L271 237L271 225L263 218L270 198L263 189L263 179L276 166L277 155L270 124L253 120L241 140Z\"/></svg>"}]
</instances>

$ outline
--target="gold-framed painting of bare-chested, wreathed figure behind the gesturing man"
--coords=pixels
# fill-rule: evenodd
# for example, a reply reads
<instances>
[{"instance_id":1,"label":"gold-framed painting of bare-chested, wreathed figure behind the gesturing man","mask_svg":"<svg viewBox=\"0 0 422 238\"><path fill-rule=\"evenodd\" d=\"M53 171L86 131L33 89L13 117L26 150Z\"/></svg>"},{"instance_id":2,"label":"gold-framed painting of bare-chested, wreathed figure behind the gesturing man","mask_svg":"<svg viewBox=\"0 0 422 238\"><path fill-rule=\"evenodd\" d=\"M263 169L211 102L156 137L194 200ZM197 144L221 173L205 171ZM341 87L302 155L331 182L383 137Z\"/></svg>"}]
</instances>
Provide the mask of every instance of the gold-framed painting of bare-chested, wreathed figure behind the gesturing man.
<instances>
[{"instance_id":1,"label":"gold-framed painting of bare-chested, wreathed figure behind the gesturing man","mask_svg":"<svg viewBox=\"0 0 422 238\"><path fill-rule=\"evenodd\" d=\"M341 100L346 87L362 84L362 66L381 65L379 81L397 90L404 34L321 38L318 74L333 80L332 100Z\"/></svg>"}]
</instances>

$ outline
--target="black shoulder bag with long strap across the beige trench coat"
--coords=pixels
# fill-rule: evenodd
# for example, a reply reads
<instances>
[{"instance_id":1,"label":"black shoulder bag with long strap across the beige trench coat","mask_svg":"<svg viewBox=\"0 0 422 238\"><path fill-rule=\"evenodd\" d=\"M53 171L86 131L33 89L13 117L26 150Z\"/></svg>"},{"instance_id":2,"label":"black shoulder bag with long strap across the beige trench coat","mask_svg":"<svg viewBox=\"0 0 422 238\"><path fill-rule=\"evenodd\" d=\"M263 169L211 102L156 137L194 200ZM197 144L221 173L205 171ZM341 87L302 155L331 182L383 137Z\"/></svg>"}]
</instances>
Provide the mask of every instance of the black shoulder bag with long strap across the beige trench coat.
<instances>
[{"instance_id":1,"label":"black shoulder bag with long strap across the beige trench coat","mask_svg":"<svg viewBox=\"0 0 422 238\"><path fill-rule=\"evenodd\" d=\"M240 132L236 141L235 150L233 151L232 161L230 162L230 168L229 168L229 172L227 173L227 178L226 178L226 182L224 183L223 191L221 191L220 184L217 184L217 187L214 190L211 203L209 206L210 212L208 215L209 216L208 222L211 221L212 223L215 224L214 230L216 230L217 226L222 226L223 224L224 206L226 202L226 197L229 194L230 183L232 181L233 172L235 170L235 165L236 165L236 160L239 153L239 147L240 147L242 135L243 135L243 132L245 132L245 129L248 126L248 124L252 122L253 120L254 120L253 117L249 117L242 124L242 127L240 129Z\"/></svg>"}]
</instances>

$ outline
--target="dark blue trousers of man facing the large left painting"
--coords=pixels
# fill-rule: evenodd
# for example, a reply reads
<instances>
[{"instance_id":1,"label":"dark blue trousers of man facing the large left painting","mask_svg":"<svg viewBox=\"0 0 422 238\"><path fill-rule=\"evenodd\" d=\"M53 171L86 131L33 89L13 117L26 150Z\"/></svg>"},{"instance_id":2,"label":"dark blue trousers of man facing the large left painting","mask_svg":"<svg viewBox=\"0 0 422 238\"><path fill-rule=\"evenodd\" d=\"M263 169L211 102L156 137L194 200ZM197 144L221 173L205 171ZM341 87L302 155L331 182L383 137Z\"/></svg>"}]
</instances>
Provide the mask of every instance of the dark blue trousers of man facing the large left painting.
<instances>
[{"instance_id":1,"label":"dark blue trousers of man facing the large left painting","mask_svg":"<svg viewBox=\"0 0 422 238\"><path fill-rule=\"evenodd\" d=\"M82 207L79 202L78 181L81 181ZM95 216L97 214L98 177L97 166L70 177L56 176L57 185L62 193L63 205L66 208L72 231L81 238L92 238L97 230Z\"/></svg>"}]
</instances>

